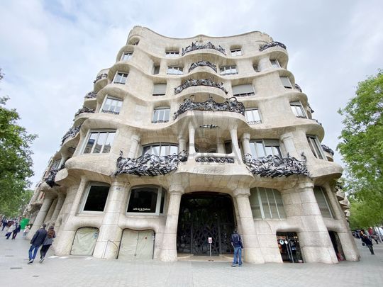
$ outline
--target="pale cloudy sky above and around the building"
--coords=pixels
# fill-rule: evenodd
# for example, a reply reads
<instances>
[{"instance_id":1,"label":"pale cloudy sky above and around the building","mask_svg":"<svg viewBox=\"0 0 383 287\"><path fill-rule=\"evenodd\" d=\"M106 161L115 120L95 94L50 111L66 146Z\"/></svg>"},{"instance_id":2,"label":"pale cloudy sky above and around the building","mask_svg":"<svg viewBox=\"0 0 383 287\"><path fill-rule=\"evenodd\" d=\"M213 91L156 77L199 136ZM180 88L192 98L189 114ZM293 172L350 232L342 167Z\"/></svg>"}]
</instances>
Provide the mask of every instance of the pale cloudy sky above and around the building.
<instances>
[{"instance_id":1,"label":"pale cloudy sky above and around the building","mask_svg":"<svg viewBox=\"0 0 383 287\"><path fill-rule=\"evenodd\" d=\"M189 38L259 30L287 45L289 64L335 150L338 108L357 83L383 68L383 2L356 1L74 1L0 0L0 96L10 96L33 142L33 186L96 74L111 67L134 26ZM342 163L335 152L335 162ZM32 186L32 187L33 187Z\"/></svg>"}]
</instances>

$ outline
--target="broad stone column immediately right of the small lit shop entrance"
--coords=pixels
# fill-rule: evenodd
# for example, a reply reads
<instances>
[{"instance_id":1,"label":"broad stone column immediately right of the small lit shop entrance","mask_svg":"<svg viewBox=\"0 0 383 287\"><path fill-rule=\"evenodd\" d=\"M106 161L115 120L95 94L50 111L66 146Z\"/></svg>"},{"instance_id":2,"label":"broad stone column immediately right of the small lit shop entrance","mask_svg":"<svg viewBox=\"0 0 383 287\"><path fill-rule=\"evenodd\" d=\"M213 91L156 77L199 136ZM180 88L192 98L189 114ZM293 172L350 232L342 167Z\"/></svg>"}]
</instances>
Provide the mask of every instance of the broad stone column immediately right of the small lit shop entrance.
<instances>
[{"instance_id":1,"label":"broad stone column immediately right of the small lit shop entrance","mask_svg":"<svg viewBox=\"0 0 383 287\"><path fill-rule=\"evenodd\" d=\"M338 263L313 193L313 183L301 181L294 188L285 189L282 200L287 218L301 225L297 233L304 261Z\"/></svg>"}]
</instances>

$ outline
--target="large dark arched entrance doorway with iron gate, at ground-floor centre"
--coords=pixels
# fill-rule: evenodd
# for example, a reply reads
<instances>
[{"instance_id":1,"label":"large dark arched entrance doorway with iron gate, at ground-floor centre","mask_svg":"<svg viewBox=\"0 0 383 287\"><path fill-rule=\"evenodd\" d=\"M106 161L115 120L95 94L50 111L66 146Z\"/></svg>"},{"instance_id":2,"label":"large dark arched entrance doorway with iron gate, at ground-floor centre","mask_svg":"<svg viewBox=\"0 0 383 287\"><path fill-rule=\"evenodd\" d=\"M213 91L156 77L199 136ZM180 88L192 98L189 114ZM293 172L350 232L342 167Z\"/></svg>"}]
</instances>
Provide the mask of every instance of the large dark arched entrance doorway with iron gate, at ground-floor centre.
<instances>
[{"instance_id":1,"label":"large dark arched entrance doorway with iron gate, at ground-floor centre","mask_svg":"<svg viewBox=\"0 0 383 287\"><path fill-rule=\"evenodd\" d=\"M233 252L233 201L224 193L196 192L181 198L177 227L177 252L208 255L208 238L212 237L211 254Z\"/></svg>"}]
</instances>

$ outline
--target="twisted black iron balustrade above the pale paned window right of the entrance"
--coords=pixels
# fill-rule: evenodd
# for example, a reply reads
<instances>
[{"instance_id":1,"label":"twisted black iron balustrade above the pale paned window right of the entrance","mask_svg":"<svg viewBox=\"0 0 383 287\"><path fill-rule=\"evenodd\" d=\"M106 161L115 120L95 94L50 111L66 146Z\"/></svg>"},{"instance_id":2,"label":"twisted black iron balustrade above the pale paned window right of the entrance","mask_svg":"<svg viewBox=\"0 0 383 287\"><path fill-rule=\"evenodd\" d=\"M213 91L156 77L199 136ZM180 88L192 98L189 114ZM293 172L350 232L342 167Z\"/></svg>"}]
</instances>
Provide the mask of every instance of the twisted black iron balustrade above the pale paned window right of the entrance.
<instances>
[{"instance_id":1,"label":"twisted black iron balustrade above the pale paned window right of the entrance","mask_svg":"<svg viewBox=\"0 0 383 287\"><path fill-rule=\"evenodd\" d=\"M260 157L253 159L251 154L245 154L243 161L250 167L252 174L266 177L279 177L291 176L293 174L300 174L309 176L309 171L306 167L306 157L301 153L302 160L295 157L278 157L276 155L268 155L267 157Z\"/></svg>"}]
</instances>

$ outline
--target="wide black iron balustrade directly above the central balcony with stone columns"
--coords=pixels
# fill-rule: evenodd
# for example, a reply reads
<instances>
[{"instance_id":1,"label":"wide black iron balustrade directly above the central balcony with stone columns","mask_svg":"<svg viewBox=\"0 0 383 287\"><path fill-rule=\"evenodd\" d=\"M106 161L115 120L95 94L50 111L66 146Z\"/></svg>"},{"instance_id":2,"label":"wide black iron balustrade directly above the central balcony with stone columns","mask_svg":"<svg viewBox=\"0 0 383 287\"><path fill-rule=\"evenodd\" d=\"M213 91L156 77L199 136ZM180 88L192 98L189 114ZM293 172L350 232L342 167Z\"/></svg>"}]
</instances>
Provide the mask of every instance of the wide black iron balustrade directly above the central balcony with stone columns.
<instances>
[{"instance_id":1,"label":"wide black iron balustrade directly above the central balcony with stone columns","mask_svg":"<svg viewBox=\"0 0 383 287\"><path fill-rule=\"evenodd\" d=\"M243 103L240 101L237 101L235 96L226 99L223 103L213 101L210 95L207 101L198 103L194 102L193 96L191 96L189 99L184 99L184 103L182 103L178 111L174 113L173 120L186 111L229 111L245 116L245 106L243 106Z\"/></svg>"}]
</instances>

